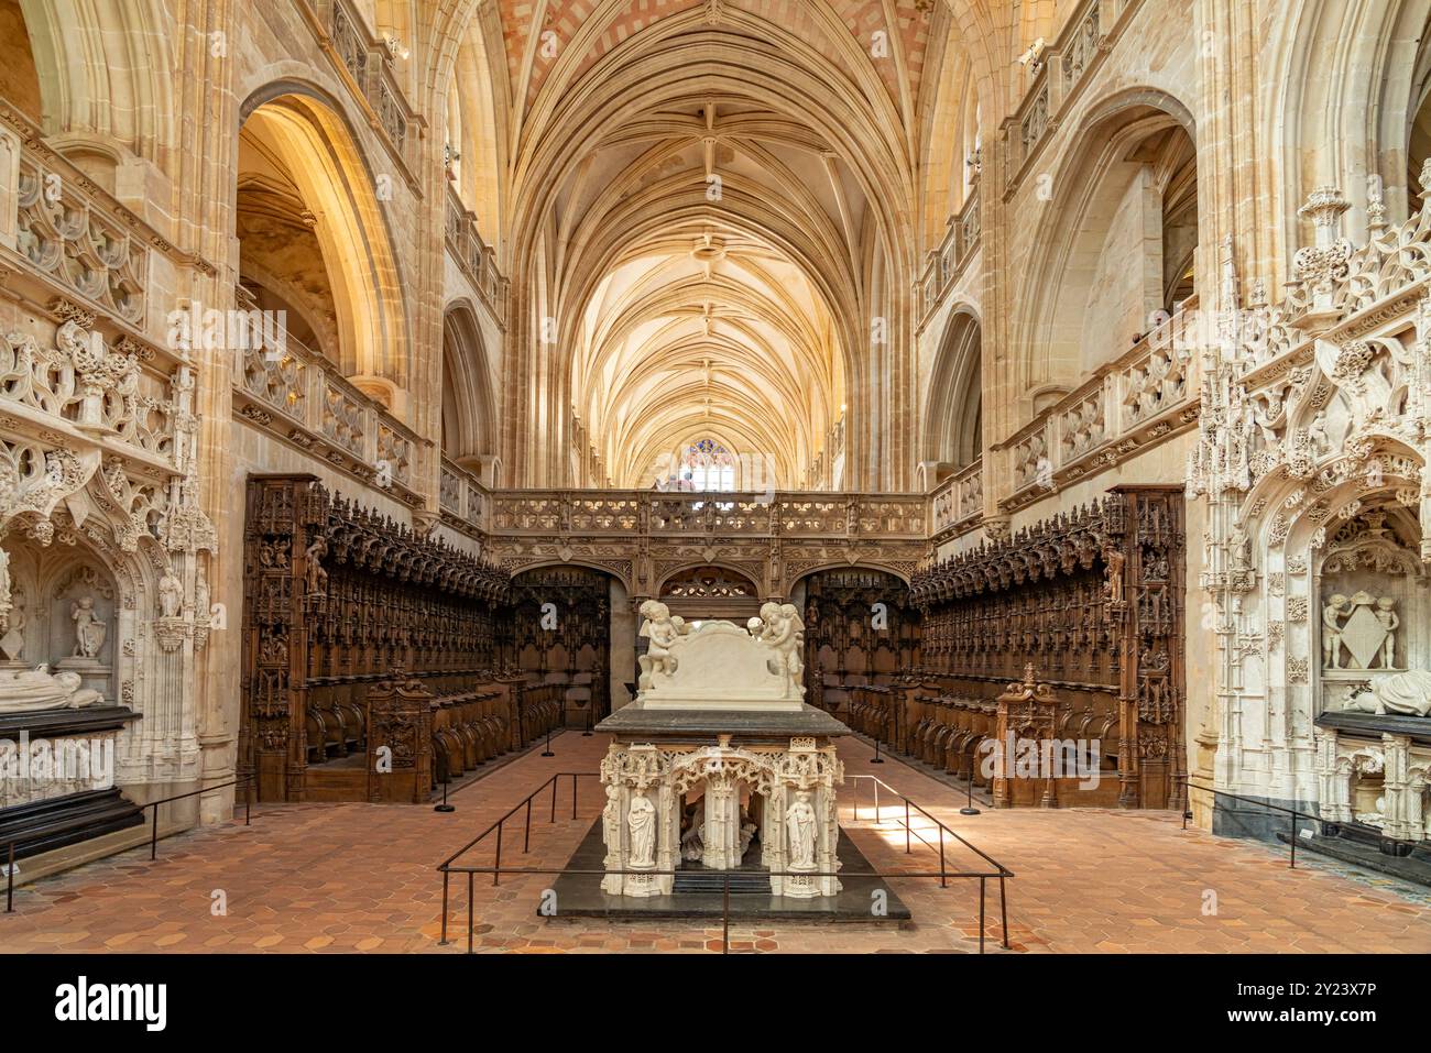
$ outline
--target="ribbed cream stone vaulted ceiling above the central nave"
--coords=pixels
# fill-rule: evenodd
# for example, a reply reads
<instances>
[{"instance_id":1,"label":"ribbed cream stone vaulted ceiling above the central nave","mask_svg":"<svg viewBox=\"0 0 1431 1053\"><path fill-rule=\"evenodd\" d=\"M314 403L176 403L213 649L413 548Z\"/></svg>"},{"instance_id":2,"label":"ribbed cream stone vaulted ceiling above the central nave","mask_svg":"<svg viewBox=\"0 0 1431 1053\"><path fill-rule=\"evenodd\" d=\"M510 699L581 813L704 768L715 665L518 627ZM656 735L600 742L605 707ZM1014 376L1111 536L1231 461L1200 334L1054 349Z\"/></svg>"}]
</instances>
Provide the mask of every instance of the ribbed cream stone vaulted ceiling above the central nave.
<instances>
[{"instance_id":1,"label":"ribbed cream stone vaulted ceiling above the central nave","mask_svg":"<svg viewBox=\"0 0 1431 1053\"><path fill-rule=\"evenodd\" d=\"M821 465L829 481L843 408L880 368L870 316L912 280L927 17L880 0L499 10L511 278L532 309L518 343L539 348L508 408L581 459L550 452L534 478L650 485L710 435L777 485L819 485Z\"/></svg>"}]
</instances>

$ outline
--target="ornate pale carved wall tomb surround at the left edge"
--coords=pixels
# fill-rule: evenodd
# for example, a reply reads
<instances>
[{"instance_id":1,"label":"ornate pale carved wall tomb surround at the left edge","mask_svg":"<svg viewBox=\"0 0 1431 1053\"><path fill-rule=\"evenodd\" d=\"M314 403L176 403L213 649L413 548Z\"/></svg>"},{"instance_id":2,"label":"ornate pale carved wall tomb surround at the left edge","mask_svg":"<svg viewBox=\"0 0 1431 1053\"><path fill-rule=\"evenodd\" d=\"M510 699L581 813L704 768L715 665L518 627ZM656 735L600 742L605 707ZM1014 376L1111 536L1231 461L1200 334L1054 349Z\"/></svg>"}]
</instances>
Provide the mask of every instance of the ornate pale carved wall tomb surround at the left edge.
<instances>
[{"instance_id":1,"label":"ornate pale carved wall tomb surround at the left edge","mask_svg":"<svg viewBox=\"0 0 1431 1053\"><path fill-rule=\"evenodd\" d=\"M197 611L207 631L216 539L195 366L102 338L90 308L49 309L49 339L0 339L0 711L127 705L140 720L106 735L117 781L192 778L200 644L180 647Z\"/></svg>"}]
</instances>

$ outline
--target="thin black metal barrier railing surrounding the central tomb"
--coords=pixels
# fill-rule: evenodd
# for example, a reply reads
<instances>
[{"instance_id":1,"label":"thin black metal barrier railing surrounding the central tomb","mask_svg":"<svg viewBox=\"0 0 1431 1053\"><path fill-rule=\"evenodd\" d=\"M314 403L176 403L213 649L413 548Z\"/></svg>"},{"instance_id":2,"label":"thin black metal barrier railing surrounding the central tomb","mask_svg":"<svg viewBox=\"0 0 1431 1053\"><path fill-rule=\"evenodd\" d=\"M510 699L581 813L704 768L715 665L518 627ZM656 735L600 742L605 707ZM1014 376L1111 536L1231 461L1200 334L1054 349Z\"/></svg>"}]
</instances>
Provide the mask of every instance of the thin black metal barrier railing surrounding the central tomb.
<instances>
[{"instance_id":1,"label":"thin black metal barrier railing surrounding the central tomb","mask_svg":"<svg viewBox=\"0 0 1431 1053\"><path fill-rule=\"evenodd\" d=\"M542 793L545 793L545 790L548 787L551 787L551 817L548 818L548 823L555 823L557 821L557 785L558 785L558 781L561 778L571 778L571 817L577 818L577 780L578 778L597 778L597 777L598 777L598 773L594 773L594 771L561 771L561 773L557 773L555 775L552 775L551 778L548 778L545 783L542 783L539 787L537 787L535 790L532 790L522 801L519 801L518 804L512 805L512 808L509 808L507 811L507 814L504 814L499 820L497 820L489 827L487 827L487 830L484 830L481 834L478 834L477 837L474 837L471 841L468 841L465 846L462 846L461 848L458 848L455 853L452 853L442 863L438 864L436 868L442 873L442 936L438 940L438 946L439 947L451 946L451 940L448 940L448 914L449 914L449 906L448 904L449 904L449 896L451 896L451 878L452 878L452 874L467 874L467 953L471 954L471 953L474 953L474 934L475 934L475 921L477 921L477 917L475 917L475 903L477 903L477 876L478 874L491 874L492 876L492 884L497 886L497 884L501 883L502 874L574 874L574 876L582 876L582 877L597 877L597 876L607 877L607 876L611 876L611 874L620 874L620 876L644 874L647 877L674 877L677 873L680 873L680 871L677 871L674 868L671 868L671 870L584 870L584 868L575 868L575 867L504 867L502 866L502 861L501 861L501 858L502 858L502 828L504 828L507 820L509 820L518 811L521 811L522 808L525 808L525 830L524 830L524 837L522 837L522 853L525 854L531 848L532 801L538 795L541 795ZM881 878L881 880L883 878L933 880L933 878L937 877L942 888L947 888L949 887L949 880L950 878L956 878L956 880L957 878L967 878L967 880L977 878L979 880L979 953L980 954L985 953L985 936L986 936L986 929L987 929L987 911L986 911L986 904L987 904L987 883L990 880L997 878L997 881L999 881L999 916L1000 916L1000 926L1002 926L1002 934L1003 934L1002 940L1000 940L1000 946L1005 950L1009 950L1010 949L1010 944L1009 944L1009 901L1007 901L1007 890L1005 887L1005 880L1013 877L1015 876L1013 871L1009 870L1007 867L1005 867L997 860L992 858L987 853L983 853L979 848L976 848L975 846L972 846L963 837L960 837L953 830L950 830L943 823L940 823L937 818L934 818L933 816L930 816L923 807L920 807L919 804L914 804L913 801L910 801L907 797L904 797L903 794L900 794L899 791L896 791L887 783L883 783L881 780L876 778L874 775L853 775L853 778L871 778L879 785L883 785L886 790L889 790L890 793L893 793L896 797L899 797L904 803L904 808L906 808L906 820L904 820L904 828L906 828L904 851L906 853L913 853L913 843L910 840L912 837L917 837L920 840L920 843L926 844L930 848L934 847L933 844L930 844L929 841L926 841L919 834L919 831L916 831L909 824L909 810L914 808L919 814L924 816L932 823L934 823L934 826L940 830L940 838L939 838L939 870L937 871L909 871L909 870L896 870L896 871L860 870L860 871L851 871L851 870L841 870L839 873L824 871L824 870L800 870L800 871L770 870L770 871L766 871L766 873L770 877L873 877L873 878ZM856 784L856 785L859 785L859 784ZM876 790L877 790L877 787L876 787ZM856 794L854 813L856 813L854 814L854 821L857 823L859 821L859 797L857 797L857 794ZM879 820L879 805L877 804L876 804L876 820ZM484 838L487 838L489 834L492 834L492 831L497 831L497 858L495 858L495 861L494 861L492 866L477 867L477 866L467 866L467 864L458 864L456 863L456 860L459 857L465 856L468 851L471 851L474 847L477 847ZM960 844L963 844L970 851L973 851L982 860L985 860L986 863L989 863L990 864L990 870L949 870L949 867L946 864L946 856L944 856L944 836L946 834L949 837L954 838L956 841L959 841ZM730 953L730 878L731 878L731 871L728 871L728 870L727 871L721 871L721 953L723 954L728 954Z\"/></svg>"}]
</instances>

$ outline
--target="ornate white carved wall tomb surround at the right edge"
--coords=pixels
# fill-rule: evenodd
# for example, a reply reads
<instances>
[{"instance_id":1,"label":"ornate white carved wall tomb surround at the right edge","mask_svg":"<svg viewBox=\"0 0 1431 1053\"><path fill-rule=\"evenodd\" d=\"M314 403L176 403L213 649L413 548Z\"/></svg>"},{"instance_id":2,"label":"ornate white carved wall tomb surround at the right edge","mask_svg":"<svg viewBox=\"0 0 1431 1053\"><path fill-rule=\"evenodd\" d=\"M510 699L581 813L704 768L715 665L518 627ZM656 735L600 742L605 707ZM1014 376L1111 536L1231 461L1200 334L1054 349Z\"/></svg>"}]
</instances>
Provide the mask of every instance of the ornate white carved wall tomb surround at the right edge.
<instances>
[{"instance_id":1,"label":"ornate white carved wall tomb surround at the right edge","mask_svg":"<svg viewBox=\"0 0 1431 1053\"><path fill-rule=\"evenodd\" d=\"M1431 207L1392 229L1374 189L1362 246L1342 237L1348 207L1312 195L1284 300L1244 305L1234 282L1236 332L1202 356L1188 489L1222 652L1203 777L1422 840L1421 747L1382 735L1431 710L1431 300L1395 299L1431 276Z\"/></svg>"}]
</instances>

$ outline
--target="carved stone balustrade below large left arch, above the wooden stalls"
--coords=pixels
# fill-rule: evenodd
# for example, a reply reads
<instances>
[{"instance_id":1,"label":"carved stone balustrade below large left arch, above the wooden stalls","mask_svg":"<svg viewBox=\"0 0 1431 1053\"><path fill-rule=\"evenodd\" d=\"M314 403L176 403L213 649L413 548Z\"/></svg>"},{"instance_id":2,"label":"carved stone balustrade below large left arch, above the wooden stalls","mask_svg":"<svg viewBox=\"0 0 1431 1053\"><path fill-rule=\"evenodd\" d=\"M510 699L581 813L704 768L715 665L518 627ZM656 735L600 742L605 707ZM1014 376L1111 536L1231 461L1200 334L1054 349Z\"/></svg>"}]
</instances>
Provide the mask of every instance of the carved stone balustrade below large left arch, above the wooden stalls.
<instances>
[{"instance_id":1,"label":"carved stone balustrade below large left arch, above the wooden stalls","mask_svg":"<svg viewBox=\"0 0 1431 1053\"><path fill-rule=\"evenodd\" d=\"M236 305L255 310L239 288ZM428 444L353 386L323 355L283 333L282 351L255 336L236 349L235 411L250 423L323 456L363 482L416 505Z\"/></svg>"}]
</instances>

